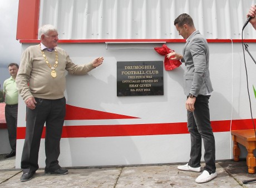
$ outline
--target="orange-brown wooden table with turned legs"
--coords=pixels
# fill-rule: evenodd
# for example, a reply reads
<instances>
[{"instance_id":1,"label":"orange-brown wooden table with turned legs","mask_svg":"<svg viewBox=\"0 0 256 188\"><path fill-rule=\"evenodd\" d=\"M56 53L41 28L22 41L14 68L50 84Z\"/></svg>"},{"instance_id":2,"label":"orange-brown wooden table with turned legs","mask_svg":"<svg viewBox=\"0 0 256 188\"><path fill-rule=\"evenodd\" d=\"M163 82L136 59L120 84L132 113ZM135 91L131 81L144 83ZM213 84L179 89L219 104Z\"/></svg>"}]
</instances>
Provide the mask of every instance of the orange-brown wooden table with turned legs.
<instances>
[{"instance_id":1,"label":"orange-brown wooden table with turned legs","mask_svg":"<svg viewBox=\"0 0 256 188\"><path fill-rule=\"evenodd\" d=\"M247 130L235 130L231 131L233 138L233 155L234 161L239 161L240 149L238 147L238 143L245 146L248 151L246 162L248 166L248 173L254 174L256 166L255 156L253 155L253 151L256 148L256 138L254 129Z\"/></svg>"}]
</instances>

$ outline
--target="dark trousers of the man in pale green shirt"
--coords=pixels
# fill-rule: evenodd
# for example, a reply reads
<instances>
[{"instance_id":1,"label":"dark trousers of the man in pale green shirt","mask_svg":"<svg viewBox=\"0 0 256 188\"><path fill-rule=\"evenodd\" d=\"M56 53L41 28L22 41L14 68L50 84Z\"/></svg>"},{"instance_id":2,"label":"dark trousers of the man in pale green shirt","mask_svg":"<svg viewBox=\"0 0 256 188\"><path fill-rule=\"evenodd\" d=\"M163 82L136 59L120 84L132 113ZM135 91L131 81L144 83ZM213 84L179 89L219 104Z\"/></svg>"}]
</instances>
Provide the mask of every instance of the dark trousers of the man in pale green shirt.
<instances>
[{"instance_id":1,"label":"dark trousers of the man in pale green shirt","mask_svg":"<svg viewBox=\"0 0 256 188\"><path fill-rule=\"evenodd\" d=\"M16 152L16 134L17 134L17 116L18 116L18 104L6 105L6 125L8 130L9 142L13 152Z\"/></svg>"}]
</instances>

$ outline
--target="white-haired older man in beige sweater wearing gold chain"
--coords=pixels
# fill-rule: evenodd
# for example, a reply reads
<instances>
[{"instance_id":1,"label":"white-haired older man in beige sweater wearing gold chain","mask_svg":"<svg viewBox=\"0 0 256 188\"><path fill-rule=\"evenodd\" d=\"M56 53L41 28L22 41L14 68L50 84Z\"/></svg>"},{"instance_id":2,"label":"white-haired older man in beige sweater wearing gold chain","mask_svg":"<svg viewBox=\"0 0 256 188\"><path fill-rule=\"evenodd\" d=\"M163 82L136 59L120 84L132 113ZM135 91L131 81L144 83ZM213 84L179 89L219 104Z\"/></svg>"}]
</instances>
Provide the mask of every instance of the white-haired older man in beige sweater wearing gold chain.
<instances>
[{"instance_id":1,"label":"white-haired older man in beige sweater wearing gold chain","mask_svg":"<svg viewBox=\"0 0 256 188\"><path fill-rule=\"evenodd\" d=\"M21 181L31 180L38 169L38 151L46 124L46 174L67 174L58 164L60 140L66 113L65 71L84 75L100 66L104 58L85 65L75 65L67 52L57 47L58 32L52 25L38 30L41 43L28 47L22 54L16 78L19 94L27 106L26 137L21 158Z\"/></svg>"}]
</instances>

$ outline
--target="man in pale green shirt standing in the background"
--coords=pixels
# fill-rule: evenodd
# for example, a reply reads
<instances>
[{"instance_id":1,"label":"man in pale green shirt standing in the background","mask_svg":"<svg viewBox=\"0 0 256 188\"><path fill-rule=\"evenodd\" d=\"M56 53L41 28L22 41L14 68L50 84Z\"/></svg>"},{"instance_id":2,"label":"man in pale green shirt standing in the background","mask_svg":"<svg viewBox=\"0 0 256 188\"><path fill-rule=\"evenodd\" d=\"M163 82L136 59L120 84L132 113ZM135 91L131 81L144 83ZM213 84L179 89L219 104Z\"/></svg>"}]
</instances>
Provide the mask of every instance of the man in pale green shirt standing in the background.
<instances>
[{"instance_id":1,"label":"man in pale green shirt standing in the background","mask_svg":"<svg viewBox=\"0 0 256 188\"><path fill-rule=\"evenodd\" d=\"M3 82L3 97L6 102L5 115L6 125L8 130L9 142L12 151L4 158L13 157L16 155L16 130L17 130L17 116L18 116L18 90L16 87L16 76L19 65L11 63L8 65L8 70L11 75L10 78Z\"/></svg>"}]
</instances>

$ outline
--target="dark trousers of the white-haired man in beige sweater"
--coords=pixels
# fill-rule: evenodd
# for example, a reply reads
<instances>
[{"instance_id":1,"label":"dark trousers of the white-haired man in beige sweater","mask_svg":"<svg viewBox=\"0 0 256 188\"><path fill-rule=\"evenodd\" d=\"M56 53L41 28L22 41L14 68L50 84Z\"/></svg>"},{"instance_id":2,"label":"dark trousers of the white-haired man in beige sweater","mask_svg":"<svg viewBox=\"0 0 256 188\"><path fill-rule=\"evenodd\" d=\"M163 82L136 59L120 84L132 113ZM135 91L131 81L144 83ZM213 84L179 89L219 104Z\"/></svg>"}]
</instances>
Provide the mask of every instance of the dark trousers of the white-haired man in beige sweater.
<instances>
[{"instance_id":1,"label":"dark trousers of the white-haired man in beige sweater","mask_svg":"<svg viewBox=\"0 0 256 188\"><path fill-rule=\"evenodd\" d=\"M35 172L38 169L38 152L46 125L45 154L46 169L57 170L60 155L60 140L66 113L65 97L57 100L36 99L36 108L27 108L26 137L21 157L23 172Z\"/></svg>"}]
</instances>

